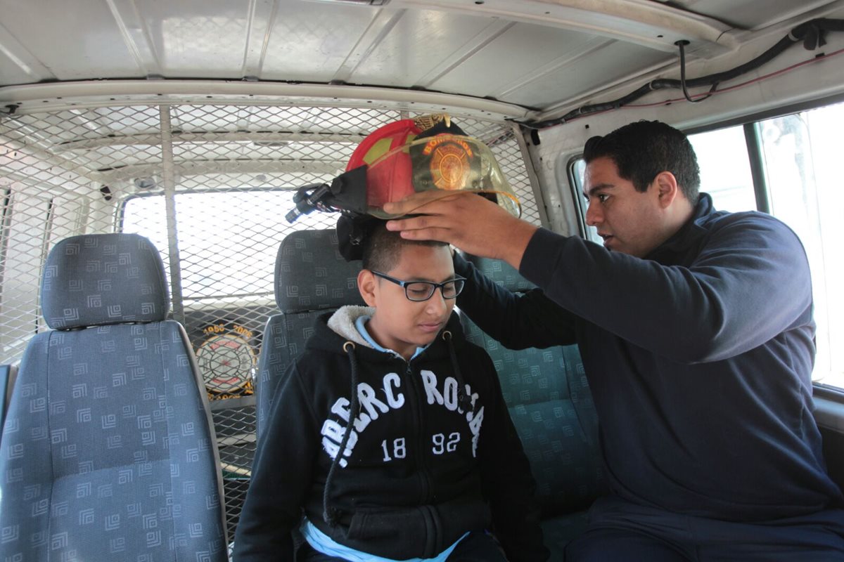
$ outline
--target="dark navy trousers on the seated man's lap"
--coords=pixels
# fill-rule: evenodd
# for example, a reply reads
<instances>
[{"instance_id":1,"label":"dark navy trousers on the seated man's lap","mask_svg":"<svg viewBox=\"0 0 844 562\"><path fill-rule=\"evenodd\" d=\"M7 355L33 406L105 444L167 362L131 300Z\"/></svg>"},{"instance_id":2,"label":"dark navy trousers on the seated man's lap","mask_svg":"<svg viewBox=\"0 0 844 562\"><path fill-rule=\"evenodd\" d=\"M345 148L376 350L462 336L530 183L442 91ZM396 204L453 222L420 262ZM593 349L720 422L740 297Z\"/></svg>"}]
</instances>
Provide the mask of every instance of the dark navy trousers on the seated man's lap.
<instances>
[{"instance_id":1,"label":"dark navy trousers on the seated man's lap","mask_svg":"<svg viewBox=\"0 0 844 562\"><path fill-rule=\"evenodd\" d=\"M844 510L769 522L678 515L615 496L589 510L586 531L565 548L567 562L830 562L844 560Z\"/></svg>"}]
</instances>

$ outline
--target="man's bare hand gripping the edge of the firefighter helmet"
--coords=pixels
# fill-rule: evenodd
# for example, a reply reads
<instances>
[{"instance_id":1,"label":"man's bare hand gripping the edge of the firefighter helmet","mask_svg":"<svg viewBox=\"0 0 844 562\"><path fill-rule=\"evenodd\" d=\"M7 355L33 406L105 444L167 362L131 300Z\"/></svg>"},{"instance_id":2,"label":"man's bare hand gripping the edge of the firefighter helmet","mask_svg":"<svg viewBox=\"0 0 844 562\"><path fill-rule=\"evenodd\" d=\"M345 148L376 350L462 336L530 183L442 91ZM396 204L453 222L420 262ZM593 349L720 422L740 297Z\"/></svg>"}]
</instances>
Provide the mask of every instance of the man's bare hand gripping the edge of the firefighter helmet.
<instances>
[{"instance_id":1,"label":"man's bare hand gripping the edge of the firefighter helmet","mask_svg":"<svg viewBox=\"0 0 844 562\"><path fill-rule=\"evenodd\" d=\"M387 222L387 230L401 231L402 238L440 240L469 254L505 260L517 269L537 230L492 201L468 191L445 196L439 190L424 191L387 203L384 211L420 215Z\"/></svg>"}]
</instances>

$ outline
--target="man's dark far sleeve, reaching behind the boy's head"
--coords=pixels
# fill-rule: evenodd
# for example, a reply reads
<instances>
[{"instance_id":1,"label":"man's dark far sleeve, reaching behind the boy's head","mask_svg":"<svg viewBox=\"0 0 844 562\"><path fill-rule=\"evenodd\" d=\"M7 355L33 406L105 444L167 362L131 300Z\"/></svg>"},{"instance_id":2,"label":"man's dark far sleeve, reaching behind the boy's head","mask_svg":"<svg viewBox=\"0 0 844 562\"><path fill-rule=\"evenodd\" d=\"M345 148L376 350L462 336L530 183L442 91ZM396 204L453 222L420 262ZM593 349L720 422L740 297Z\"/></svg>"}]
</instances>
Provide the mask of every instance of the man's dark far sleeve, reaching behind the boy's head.
<instances>
[{"instance_id":1,"label":"man's dark far sleeve, reaching behind the boy's head","mask_svg":"<svg viewBox=\"0 0 844 562\"><path fill-rule=\"evenodd\" d=\"M498 286L455 254L454 270L466 277L457 307L480 329L511 350L575 343L575 317L534 289L515 293Z\"/></svg>"}]
</instances>

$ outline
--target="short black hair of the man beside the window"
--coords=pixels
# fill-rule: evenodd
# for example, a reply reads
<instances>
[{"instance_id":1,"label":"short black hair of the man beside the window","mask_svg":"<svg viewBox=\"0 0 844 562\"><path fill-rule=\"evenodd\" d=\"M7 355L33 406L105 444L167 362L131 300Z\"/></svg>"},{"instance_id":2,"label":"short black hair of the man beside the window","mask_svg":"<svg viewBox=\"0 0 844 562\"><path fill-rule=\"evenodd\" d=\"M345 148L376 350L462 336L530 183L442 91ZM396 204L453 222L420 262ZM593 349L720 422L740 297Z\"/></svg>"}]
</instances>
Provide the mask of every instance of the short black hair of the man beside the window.
<instances>
[{"instance_id":1,"label":"short black hair of the man beside the window","mask_svg":"<svg viewBox=\"0 0 844 562\"><path fill-rule=\"evenodd\" d=\"M586 163L609 158L619 176L629 179L638 191L647 191L657 174L674 174L680 190L692 205L701 188L701 169L689 138L660 121L636 121L607 136L592 136L583 148Z\"/></svg>"}]
</instances>

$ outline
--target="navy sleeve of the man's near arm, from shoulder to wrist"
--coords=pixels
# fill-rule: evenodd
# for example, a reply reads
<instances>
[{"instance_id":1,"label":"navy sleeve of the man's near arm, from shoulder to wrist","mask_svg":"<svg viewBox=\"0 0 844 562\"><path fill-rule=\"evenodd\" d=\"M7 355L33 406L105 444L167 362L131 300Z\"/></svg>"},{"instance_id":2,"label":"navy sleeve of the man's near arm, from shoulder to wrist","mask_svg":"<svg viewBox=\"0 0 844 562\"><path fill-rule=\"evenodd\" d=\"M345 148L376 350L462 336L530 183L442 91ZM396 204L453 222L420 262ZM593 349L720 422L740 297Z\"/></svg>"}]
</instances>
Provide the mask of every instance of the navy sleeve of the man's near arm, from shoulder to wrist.
<instances>
[{"instance_id":1,"label":"navy sleeve of the man's near arm, from shoulder to wrist","mask_svg":"<svg viewBox=\"0 0 844 562\"><path fill-rule=\"evenodd\" d=\"M661 265L540 229L520 273L561 307L672 361L718 361L811 323L809 265L790 228L736 213L690 265Z\"/></svg>"}]
</instances>

